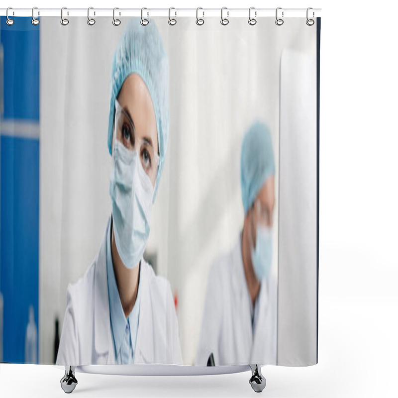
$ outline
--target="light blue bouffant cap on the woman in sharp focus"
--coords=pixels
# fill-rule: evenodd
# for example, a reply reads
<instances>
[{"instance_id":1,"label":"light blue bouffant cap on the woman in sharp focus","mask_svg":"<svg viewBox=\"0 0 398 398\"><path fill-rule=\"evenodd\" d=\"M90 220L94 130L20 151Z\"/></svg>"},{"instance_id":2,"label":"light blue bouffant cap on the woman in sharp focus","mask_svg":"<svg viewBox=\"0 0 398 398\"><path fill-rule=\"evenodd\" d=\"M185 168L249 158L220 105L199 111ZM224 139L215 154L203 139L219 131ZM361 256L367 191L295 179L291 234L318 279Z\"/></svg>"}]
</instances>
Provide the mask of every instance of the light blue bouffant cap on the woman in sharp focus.
<instances>
[{"instance_id":1,"label":"light blue bouffant cap on the woman in sharp focus","mask_svg":"<svg viewBox=\"0 0 398 398\"><path fill-rule=\"evenodd\" d=\"M110 76L108 149L112 154L115 99L126 78L136 73L148 88L155 110L160 158L153 196L155 200L169 138L169 60L155 23L152 21L143 26L140 20L141 18L130 19L113 56Z\"/></svg>"}]
</instances>

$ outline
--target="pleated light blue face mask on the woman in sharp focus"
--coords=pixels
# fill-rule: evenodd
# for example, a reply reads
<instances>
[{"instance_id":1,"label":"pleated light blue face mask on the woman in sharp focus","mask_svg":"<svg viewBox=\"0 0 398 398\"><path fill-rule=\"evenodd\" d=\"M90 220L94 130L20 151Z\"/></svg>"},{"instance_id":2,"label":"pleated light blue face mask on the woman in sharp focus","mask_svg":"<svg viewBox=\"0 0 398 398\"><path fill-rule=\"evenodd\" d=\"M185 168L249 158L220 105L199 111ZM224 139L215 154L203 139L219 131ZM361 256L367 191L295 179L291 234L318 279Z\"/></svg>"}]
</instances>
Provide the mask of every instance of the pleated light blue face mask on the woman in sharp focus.
<instances>
[{"instance_id":1,"label":"pleated light blue face mask on the woman in sharp focus","mask_svg":"<svg viewBox=\"0 0 398 398\"><path fill-rule=\"evenodd\" d=\"M137 151L113 141L109 181L116 248L127 268L135 267L149 237L154 189Z\"/></svg>"}]
</instances>

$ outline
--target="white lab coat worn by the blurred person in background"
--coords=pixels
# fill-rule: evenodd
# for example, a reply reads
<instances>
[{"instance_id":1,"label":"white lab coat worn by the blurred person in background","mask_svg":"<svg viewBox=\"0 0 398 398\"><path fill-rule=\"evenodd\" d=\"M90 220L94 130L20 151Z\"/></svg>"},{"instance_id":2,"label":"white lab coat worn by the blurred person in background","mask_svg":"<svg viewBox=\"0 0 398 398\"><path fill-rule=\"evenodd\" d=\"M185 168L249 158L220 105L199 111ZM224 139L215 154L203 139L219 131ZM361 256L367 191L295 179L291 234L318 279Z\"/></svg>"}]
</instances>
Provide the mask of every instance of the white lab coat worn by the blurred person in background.
<instances>
[{"instance_id":1,"label":"white lab coat worn by the blurred person in background","mask_svg":"<svg viewBox=\"0 0 398 398\"><path fill-rule=\"evenodd\" d=\"M243 269L241 235L232 251L212 264L208 276L196 365L213 353L218 365L277 363L277 283L261 282L252 330L250 295Z\"/></svg>"}]
</instances>

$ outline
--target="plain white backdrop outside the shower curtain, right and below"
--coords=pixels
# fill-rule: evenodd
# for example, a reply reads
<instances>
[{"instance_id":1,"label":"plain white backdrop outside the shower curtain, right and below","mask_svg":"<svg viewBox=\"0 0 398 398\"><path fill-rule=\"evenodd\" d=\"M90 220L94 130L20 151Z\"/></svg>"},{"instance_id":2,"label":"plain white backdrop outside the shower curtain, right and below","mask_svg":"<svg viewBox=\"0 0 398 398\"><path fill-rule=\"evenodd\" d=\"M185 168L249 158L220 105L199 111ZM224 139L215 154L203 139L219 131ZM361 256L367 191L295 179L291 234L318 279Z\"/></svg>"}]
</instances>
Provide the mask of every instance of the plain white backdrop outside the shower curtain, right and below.
<instances>
[{"instance_id":1,"label":"plain white backdrop outside the shower curtain, right and below","mask_svg":"<svg viewBox=\"0 0 398 398\"><path fill-rule=\"evenodd\" d=\"M211 1L212 7L225 4ZM42 0L40 5L60 8L64 3ZM92 3L71 0L68 5ZM123 5L131 6L120 0L118 6ZM145 5L166 6L156 0ZM176 0L173 5L197 7L198 3ZM201 5L210 6L210 2ZM230 0L227 5L250 4ZM283 5L322 7L319 363L302 369L263 368L267 387L262 394L396 397L398 4L285 0ZM18 6L32 7L32 3L20 0ZM113 4L98 1L97 6ZM62 376L63 371L48 366L1 365L0 393L54 397L63 394ZM131 397L132 393L137 397L252 397L248 379L249 373L151 379L78 375L77 388L84 397Z\"/></svg>"}]
</instances>

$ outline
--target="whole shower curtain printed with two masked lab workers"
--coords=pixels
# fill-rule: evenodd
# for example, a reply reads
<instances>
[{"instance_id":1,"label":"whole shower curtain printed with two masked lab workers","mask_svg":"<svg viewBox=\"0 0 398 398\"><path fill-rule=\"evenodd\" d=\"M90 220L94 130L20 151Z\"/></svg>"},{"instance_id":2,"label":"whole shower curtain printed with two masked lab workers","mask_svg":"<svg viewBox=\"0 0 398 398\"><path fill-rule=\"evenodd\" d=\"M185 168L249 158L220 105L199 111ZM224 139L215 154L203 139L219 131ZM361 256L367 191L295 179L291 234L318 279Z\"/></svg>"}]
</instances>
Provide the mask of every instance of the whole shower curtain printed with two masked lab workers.
<instances>
[{"instance_id":1,"label":"whole shower curtain printed with two masked lab workers","mask_svg":"<svg viewBox=\"0 0 398 398\"><path fill-rule=\"evenodd\" d=\"M0 361L317 362L320 18L0 19Z\"/></svg>"}]
</instances>

